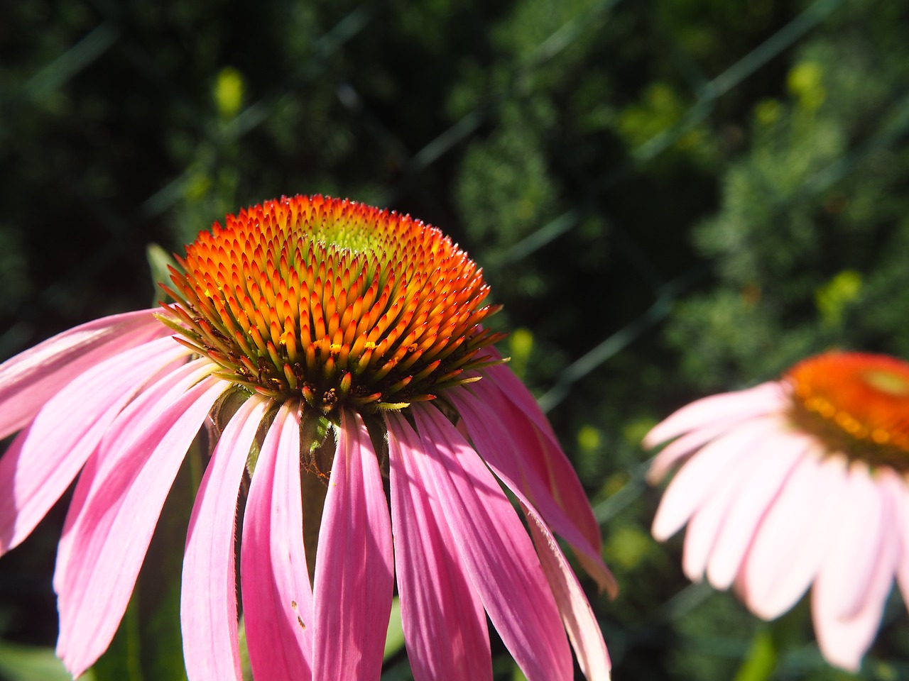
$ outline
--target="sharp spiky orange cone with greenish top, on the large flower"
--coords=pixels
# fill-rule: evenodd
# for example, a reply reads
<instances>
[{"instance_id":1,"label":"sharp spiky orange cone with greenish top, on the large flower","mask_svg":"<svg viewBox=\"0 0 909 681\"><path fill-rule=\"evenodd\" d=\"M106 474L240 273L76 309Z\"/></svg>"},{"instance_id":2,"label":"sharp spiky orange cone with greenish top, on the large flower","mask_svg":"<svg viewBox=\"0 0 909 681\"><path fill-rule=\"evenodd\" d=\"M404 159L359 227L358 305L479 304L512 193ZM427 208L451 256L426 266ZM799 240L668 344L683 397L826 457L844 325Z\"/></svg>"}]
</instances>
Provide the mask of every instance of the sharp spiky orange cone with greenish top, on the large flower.
<instances>
[{"instance_id":1,"label":"sharp spiky orange cone with greenish top, on the large flower","mask_svg":"<svg viewBox=\"0 0 909 681\"><path fill-rule=\"evenodd\" d=\"M328 413L401 409L466 382L482 327L482 271L408 215L282 197L200 232L171 270L171 325L221 375ZM181 309L182 308L182 309ZM177 323L174 323L177 322Z\"/></svg>"}]
</instances>

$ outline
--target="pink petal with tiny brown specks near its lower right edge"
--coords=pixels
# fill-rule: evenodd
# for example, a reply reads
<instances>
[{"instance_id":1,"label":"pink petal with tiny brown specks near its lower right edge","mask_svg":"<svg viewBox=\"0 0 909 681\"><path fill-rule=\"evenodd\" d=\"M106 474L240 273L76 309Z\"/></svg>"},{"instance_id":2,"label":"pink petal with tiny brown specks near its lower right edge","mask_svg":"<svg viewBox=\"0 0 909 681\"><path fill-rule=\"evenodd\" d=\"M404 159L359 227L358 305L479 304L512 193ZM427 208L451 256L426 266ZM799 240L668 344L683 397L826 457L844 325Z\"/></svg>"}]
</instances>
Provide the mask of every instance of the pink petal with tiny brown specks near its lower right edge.
<instances>
[{"instance_id":1,"label":"pink petal with tiny brown specks near its lower right edge","mask_svg":"<svg viewBox=\"0 0 909 681\"><path fill-rule=\"evenodd\" d=\"M243 519L240 575L256 681L309 681L313 592L303 546L299 404L285 402L255 464Z\"/></svg>"}]
</instances>

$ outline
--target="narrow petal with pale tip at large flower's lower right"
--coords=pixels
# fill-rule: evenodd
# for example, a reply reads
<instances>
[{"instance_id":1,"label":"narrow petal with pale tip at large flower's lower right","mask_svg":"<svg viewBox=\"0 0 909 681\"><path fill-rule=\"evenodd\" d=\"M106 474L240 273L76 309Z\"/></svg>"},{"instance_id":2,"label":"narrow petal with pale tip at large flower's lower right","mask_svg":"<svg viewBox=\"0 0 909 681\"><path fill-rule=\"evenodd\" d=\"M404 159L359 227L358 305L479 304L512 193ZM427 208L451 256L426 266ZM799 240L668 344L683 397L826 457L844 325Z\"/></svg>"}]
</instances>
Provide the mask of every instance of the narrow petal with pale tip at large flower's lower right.
<instances>
[{"instance_id":1,"label":"narrow petal with pale tip at large flower's lower right","mask_svg":"<svg viewBox=\"0 0 909 681\"><path fill-rule=\"evenodd\" d=\"M574 576L571 566L565 560L562 549L555 542L534 508L522 503L521 508L528 520L530 534L534 538L537 555L549 587L553 590L555 604L562 615L562 622L577 656L578 666L588 681L609 681L612 664L600 625L594 611L584 596L584 590Z\"/></svg>"}]
</instances>

